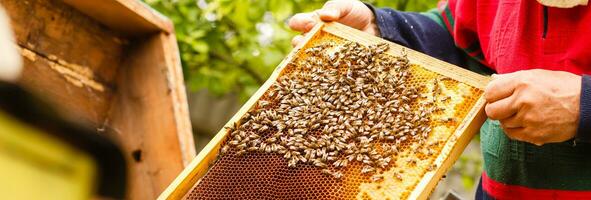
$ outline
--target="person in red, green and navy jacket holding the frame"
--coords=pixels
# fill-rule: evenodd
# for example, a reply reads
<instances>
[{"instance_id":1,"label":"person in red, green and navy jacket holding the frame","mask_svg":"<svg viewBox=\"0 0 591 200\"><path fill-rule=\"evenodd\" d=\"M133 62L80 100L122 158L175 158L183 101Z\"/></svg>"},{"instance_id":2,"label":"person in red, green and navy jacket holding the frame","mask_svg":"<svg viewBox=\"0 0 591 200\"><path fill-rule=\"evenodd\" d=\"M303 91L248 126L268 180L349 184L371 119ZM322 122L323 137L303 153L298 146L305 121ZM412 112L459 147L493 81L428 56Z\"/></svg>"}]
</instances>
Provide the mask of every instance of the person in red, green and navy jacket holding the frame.
<instances>
[{"instance_id":1,"label":"person in red, green and navy jacket holding the frame","mask_svg":"<svg viewBox=\"0 0 591 200\"><path fill-rule=\"evenodd\" d=\"M306 33L318 17L497 74L485 90L476 199L591 198L587 0L449 0L426 13L329 1L289 26Z\"/></svg>"}]
</instances>

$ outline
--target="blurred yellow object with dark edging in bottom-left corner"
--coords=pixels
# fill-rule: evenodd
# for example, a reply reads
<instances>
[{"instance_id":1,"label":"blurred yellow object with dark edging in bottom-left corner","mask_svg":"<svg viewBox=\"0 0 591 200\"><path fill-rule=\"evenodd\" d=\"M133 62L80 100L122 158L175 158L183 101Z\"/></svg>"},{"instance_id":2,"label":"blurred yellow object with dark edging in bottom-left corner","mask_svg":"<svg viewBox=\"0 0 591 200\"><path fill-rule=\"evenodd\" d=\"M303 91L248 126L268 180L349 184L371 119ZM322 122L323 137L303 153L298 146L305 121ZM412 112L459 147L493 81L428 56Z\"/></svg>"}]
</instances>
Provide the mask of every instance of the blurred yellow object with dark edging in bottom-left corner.
<instances>
[{"instance_id":1,"label":"blurred yellow object with dark edging in bottom-left corner","mask_svg":"<svg viewBox=\"0 0 591 200\"><path fill-rule=\"evenodd\" d=\"M0 111L0 199L90 199L94 160Z\"/></svg>"}]
</instances>

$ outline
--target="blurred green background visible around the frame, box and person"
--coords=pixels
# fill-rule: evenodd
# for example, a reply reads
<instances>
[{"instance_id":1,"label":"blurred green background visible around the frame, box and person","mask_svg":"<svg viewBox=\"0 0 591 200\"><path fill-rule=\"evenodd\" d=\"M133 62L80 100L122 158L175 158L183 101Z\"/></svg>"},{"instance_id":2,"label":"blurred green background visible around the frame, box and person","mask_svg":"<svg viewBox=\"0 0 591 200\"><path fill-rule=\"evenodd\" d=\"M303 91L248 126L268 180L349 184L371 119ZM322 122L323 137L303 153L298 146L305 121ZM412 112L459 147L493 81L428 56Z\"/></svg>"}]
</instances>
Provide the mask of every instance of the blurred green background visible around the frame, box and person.
<instances>
[{"instance_id":1,"label":"blurred green background visible around the frame, box and person","mask_svg":"<svg viewBox=\"0 0 591 200\"><path fill-rule=\"evenodd\" d=\"M286 20L324 0L144 0L175 24L197 152L261 86L287 55ZM423 12L438 0L373 0L377 7ZM472 199L482 170L478 138L433 197L449 191Z\"/></svg>"}]
</instances>

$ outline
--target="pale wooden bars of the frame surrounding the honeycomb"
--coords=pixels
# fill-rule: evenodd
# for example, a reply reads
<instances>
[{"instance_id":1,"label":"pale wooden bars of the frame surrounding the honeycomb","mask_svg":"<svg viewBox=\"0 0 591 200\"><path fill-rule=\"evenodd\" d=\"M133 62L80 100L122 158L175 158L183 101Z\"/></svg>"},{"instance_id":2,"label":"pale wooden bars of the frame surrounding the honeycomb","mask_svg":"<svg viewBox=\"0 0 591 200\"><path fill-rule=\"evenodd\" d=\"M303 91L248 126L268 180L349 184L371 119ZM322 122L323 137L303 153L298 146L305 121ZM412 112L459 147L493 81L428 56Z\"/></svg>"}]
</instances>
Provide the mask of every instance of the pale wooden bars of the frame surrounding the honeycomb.
<instances>
[{"instance_id":1,"label":"pale wooden bars of the frame surrounding the honeycomb","mask_svg":"<svg viewBox=\"0 0 591 200\"><path fill-rule=\"evenodd\" d=\"M358 42L364 45L377 44L387 42L383 39L368 35L349 28L338 23L321 23L315 26L309 34L305 37L303 42L296 46L291 53L279 64L271 77L261 86L261 88L242 106L242 108L228 121L226 126L231 126L238 121L250 108L255 105L259 98L267 91L267 89L276 81L281 75L283 69L290 63L296 53L302 49L315 35L320 32L327 32L335 36L345 38L350 41ZM404 47L390 43L390 54L398 54ZM425 54L405 48L408 59L411 63L419 64L424 68L447 76L449 78L458 80L475 88L484 89L488 77L484 77L457 66L445 63L443 61L434 59ZM431 190L435 187L443 174L453 165L454 161L462 153L463 149L470 142L470 139L479 130L480 125L486 119L484 115L484 99L480 97L475 106L467 114L465 120L458 126L453 138L442 150L440 156L435 160L437 166L436 170L427 173L417 185L417 189L410 194L409 199L426 199ZM215 162L220 145L225 139L227 131L222 129L218 134L205 146L205 148L197 155L197 157L183 170L183 172L174 180L174 182L160 195L158 199L182 199L190 189L203 177L209 167Z\"/></svg>"}]
</instances>

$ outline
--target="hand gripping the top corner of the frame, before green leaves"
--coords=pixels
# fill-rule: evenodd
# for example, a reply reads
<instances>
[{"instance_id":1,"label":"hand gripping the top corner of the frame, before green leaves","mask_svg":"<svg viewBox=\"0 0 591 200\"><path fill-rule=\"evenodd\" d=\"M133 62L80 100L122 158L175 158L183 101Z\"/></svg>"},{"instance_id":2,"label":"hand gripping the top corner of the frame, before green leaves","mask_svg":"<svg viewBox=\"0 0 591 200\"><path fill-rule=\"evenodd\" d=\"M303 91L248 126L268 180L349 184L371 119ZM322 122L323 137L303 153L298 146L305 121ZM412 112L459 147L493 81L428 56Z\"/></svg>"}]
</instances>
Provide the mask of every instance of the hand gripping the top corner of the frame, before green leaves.
<instances>
[{"instance_id":1,"label":"hand gripping the top corner of the frame, before green leaves","mask_svg":"<svg viewBox=\"0 0 591 200\"><path fill-rule=\"evenodd\" d=\"M319 10L294 15L288 22L289 28L305 34L316 25L318 18L325 22L336 21L372 35L379 35L373 12L359 0L328 1ZM295 36L291 44L296 46L303 38L303 35Z\"/></svg>"}]
</instances>

